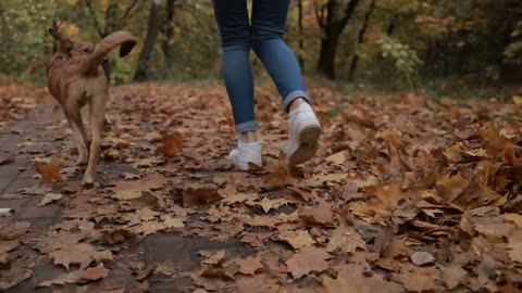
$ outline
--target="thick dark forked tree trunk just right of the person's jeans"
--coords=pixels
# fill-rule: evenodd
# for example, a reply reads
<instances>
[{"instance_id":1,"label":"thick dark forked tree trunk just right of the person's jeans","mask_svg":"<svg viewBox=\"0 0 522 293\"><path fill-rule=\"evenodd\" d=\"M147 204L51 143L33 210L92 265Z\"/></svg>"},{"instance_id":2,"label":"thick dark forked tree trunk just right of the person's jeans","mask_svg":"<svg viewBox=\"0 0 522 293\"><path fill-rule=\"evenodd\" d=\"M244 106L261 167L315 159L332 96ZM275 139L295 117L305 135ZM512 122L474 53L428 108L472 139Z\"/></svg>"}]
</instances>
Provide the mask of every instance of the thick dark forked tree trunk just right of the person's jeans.
<instances>
[{"instance_id":1,"label":"thick dark forked tree trunk just right of the person's jeans","mask_svg":"<svg viewBox=\"0 0 522 293\"><path fill-rule=\"evenodd\" d=\"M353 16L357 5L361 0L350 0L344 9L343 17L336 17L339 10L337 0L330 0L326 3L326 20L322 24L324 37L321 40L321 49L318 61L318 71L328 79L335 79L335 55L343 30ZM321 24L320 24L321 25Z\"/></svg>"}]
</instances>

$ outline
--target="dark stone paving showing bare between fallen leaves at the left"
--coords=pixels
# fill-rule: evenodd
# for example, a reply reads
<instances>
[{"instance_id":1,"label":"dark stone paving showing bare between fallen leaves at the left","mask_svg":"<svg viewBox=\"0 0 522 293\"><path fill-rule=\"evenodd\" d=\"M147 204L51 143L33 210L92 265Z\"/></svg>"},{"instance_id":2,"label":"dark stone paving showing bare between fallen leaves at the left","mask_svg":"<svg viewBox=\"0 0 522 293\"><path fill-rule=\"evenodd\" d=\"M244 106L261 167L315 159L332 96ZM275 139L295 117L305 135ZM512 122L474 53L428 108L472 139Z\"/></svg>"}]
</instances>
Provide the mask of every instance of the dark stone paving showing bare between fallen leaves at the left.
<instances>
[{"instance_id":1,"label":"dark stone paving showing bare between fallen leaves at the left","mask_svg":"<svg viewBox=\"0 0 522 293\"><path fill-rule=\"evenodd\" d=\"M28 137L46 137L53 136L53 129L49 129L49 125L59 123L62 119L62 113L53 104L47 104L29 115L25 120L10 122L5 127L0 129L0 161L10 158L8 164L0 165L0 207L14 209L11 217L0 217L0 224L10 221L29 221L32 224L30 231L26 239L36 241L47 234L48 229L60 221L61 214L64 208L59 204L50 204L44 207L38 206L40 196L21 195L20 190L41 184L41 180L35 178L34 166L30 163L30 148L24 149L24 153L20 152L20 143L27 140ZM55 135L55 133L54 133ZM36 144L35 144L36 148ZM58 152L58 142L49 144L38 144L38 150L42 154L48 152ZM14 160L14 161L13 161ZM115 163L102 162L101 168L111 168L114 176L122 174L128 166L114 166ZM112 176L112 175L111 175ZM30 247L24 247L23 254L38 255L39 253ZM200 251L217 252L226 251L227 255L245 257L251 254L252 249L243 243L220 243L213 242L204 238L183 237L178 233L156 233L149 235L145 241L129 247L130 257L144 262L145 264L153 264L159 260L170 260L173 265L186 271L192 271L200 266L201 258L198 255ZM63 268L52 265L50 259L45 264L38 264L34 268L34 276L26 281L20 283L8 292L57 292L50 288L35 289L35 285L44 280L57 277L65 272ZM109 278L119 278L111 276ZM120 277L122 278L122 277ZM113 280L114 283L126 283L133 280ZM190 289L191 279L183 278L151 278L148 279L151 292L192 292ZM76 285L64 285L58 292L77 292Z\"/></svg>"}]
</instances>

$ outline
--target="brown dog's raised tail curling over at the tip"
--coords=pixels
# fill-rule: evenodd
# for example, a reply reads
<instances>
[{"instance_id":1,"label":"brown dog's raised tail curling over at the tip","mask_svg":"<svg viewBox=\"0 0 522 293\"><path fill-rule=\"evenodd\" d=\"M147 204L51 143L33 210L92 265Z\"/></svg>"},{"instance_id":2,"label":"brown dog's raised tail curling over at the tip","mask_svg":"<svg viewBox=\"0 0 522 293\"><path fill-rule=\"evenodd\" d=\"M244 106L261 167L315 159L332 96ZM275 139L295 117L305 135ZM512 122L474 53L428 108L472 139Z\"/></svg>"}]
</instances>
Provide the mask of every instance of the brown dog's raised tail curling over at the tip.
<instances>
[{"instance_id":1,"label":"brown dog's raised tail curling over at the tip","mask_svg":"<svg viewBox=\"0 0 522 293\"><path fill-rule=\"evenodd\" d=\"M95 76L107 54L120 46L120 56L128 54L138 41L128 31L119 30L102 39L83 65L84 76Z\"/></svg>"}]
</instances>

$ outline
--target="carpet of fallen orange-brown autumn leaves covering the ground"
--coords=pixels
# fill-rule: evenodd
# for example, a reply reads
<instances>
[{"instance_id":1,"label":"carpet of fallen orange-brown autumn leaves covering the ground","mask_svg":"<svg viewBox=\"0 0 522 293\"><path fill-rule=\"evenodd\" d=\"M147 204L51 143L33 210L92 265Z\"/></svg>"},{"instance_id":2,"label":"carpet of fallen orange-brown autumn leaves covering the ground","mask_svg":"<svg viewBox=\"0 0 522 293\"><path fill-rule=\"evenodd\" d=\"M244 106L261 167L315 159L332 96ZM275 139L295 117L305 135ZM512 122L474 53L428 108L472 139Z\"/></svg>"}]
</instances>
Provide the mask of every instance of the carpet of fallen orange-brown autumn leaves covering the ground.
<instances>
[{"instance_id":1,"label":"carpet of fallen orange-brown autumn leaves covering the ground","mask_svg":"<svg viewBox=\"0 0 522 293\"><path fill-rule=\"evenodd\" d=\"M320 150L289 168L282 155L287 117L264 86L257 109L265 164L241 173L226 158L234 125L224 88L142 84L111 91L113 125L103 139L110 167L100 170L101 183L71 190L78 174L62 169L65 182L54 189L67 195L36 195L42 206L65 207L33 249L69 270L40 285L133 276L137 283L121 288L138 292L159 273L190 277L188 292L522 285L521 105L419 94L347 100L312 89L324 131ZM72 141L60 143L65 151L50 158L72 166ZM189 271L136 262L133 247L160 232L241 242L253 253L200 252Z\"/></svg>"}]
</instances>

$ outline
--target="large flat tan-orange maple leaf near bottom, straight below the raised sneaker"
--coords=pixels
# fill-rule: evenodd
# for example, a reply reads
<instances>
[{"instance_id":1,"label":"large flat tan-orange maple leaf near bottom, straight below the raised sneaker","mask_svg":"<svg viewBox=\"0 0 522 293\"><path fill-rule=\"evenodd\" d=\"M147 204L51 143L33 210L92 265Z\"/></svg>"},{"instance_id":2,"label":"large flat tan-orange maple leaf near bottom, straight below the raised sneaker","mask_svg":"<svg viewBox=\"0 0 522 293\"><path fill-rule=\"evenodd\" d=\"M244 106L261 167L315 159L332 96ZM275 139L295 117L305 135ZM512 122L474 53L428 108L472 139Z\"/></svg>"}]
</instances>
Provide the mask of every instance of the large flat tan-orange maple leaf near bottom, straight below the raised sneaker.
<instances>
[{"instance_id":1,"label":"large flat tan-orange maple leaf near bottom, straight below the raised sneaker","mask_svg":"<svg viewBox=\"0 0 522 293\"><path fill-rule=\"evenodd\" d=\"M331 255L324 249L306 246L286 260L288 271L294 279L299 279L311 271L323 272L328 269Z\"/></svg>"}]
</instances>

